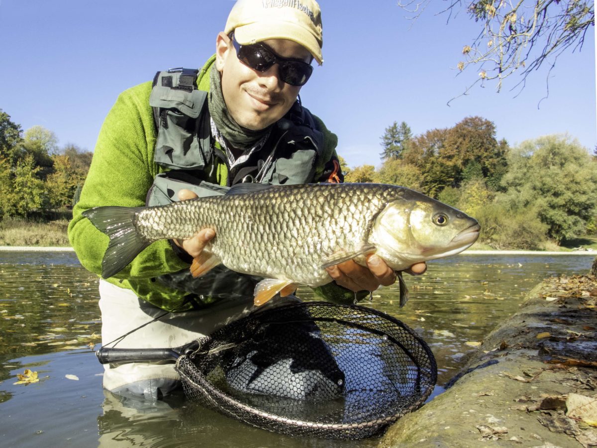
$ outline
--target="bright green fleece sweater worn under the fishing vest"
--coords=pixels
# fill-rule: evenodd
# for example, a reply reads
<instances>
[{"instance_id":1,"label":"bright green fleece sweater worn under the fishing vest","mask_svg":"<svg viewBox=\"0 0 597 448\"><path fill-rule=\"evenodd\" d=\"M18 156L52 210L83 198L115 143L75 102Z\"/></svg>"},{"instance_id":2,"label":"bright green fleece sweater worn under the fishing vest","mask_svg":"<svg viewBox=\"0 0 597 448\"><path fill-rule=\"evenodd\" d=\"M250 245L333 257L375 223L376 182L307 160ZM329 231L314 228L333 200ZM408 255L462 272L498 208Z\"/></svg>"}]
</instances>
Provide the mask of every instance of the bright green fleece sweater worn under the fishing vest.
<instances>
[{"instance_id":1,"label":"bright green fleece sweater worn under the fishing vest","mask_svg":"<svg viewBox=\"0 0 597 448\"><path fill-rule=\"evenodd\" d=\"M209 91L209 70L214 60L215 56L211 57L199 72L200 90ZM151 90L152 83L145 82L119 95L101 127L81 199L73 208L68 230L70 244L81 264L99 275L109 239L81 216L82 211L103 205L143 207L153 178L167 171L153 160L156 128L149 106ZM324 133L324 145L327 148L332 145L330 153L335 155L336 135L330 133L321 120L316 118L316 121ZM225 165L223 168L219 170L220 185L226 185ZM133 290L155 306L183 311L190 308L190 305L180 308L188 293L171 289L156 277L185 268L189 268L189 264L174 253L168 241L157 241L108 281Z\"/></svg>"}]
</instances>

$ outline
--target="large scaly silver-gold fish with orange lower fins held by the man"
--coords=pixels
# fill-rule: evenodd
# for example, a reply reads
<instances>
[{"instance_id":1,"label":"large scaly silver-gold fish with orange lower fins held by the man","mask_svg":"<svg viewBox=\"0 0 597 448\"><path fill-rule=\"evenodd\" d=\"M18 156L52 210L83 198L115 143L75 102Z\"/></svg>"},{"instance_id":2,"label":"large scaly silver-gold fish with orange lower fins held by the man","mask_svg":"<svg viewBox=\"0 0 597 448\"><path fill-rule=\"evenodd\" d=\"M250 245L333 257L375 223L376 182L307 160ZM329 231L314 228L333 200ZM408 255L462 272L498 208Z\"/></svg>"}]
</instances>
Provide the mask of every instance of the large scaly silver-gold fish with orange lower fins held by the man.
<instances>
[{"instance_id":1,"label":"large scaly silver-gold fish with orange lower fins held by the man","mask_svg":"<svg viewBox=\"0 0 597 448\"><path fill-rule=\"evenodd\" d=\"M264 277L256 305L299 284L330 283L325 268L346 260L365 266L365 256L375 253L400 271L457 254L479 236L476 220L455 208L408 188L371 183L241 184L226 195L158 207L96 207L83 215L110 237L104 278L154 241L213 228L216 237L191 266L193 275L223 264ZM408 291L398 278L403 306Z\"/></svg>"}]
</instances>

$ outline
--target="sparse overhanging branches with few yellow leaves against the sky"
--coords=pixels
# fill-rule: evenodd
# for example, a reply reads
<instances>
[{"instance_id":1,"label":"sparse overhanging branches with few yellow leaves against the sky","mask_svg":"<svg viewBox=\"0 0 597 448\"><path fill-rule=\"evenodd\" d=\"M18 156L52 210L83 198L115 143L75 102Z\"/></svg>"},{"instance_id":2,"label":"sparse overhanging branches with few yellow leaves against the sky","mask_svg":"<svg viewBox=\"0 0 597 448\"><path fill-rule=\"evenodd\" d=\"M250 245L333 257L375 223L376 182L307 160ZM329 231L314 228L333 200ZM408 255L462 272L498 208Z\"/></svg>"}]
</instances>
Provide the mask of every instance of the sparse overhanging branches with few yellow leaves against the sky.
<instances>
[{"instance_id":1,"label":"sparse overhanging branches with few yellow leaves against the sky","mask_svg":"<svg viewBox=\"0 0 597 448\"><path fill-rule=\"evenodd\" d=\"M414 14L411 19L432 4L435 7L439 2L399 2ZM587 31L595 25L595 5L588 0L444 0L440 8L441 13L449 14L448 20L466 8L469 17L479 23L478 35L463 44L463 59L457 68L476 67L473 69L479 72L472 85L494 80L497 91L513 73L521 74L524 85L527 76L543 64L553 67L565 51L582 48Z\"/></svg>"}]
</instances>

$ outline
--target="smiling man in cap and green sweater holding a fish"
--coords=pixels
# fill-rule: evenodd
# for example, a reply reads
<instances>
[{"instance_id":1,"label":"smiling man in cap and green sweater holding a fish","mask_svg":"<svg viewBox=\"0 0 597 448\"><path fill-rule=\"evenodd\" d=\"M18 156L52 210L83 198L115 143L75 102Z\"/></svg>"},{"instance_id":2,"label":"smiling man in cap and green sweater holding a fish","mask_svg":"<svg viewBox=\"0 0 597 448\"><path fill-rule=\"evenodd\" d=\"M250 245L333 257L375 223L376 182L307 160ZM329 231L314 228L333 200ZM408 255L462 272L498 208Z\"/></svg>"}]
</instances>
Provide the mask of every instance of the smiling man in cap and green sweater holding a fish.
<instances>
[{"instance_id":1,"label":"smiling man in cap and green sweater holding a fish","mask_svg":"<svg viewBox=\"0 0 597 448\"><path fill-rule=\"evenodd\" d=\"M153 83L122 93L101 128L69 225L82 265L100 274L107 247L107 237L81 216L87 208L165 204L222 194L239 182L341 182L336 136L298 100L310 63L323 62L321 47L315 1L240 0L217 35L216 55L198 73L159 72ZM101 279L102 343L132 331L119 347L179 346L250 312L259 279L221 267L189 275L214 236L203 229L189 240L158 241ZM352 301L353 291L362 297L396 280L374 255L367 268L349 261L328 273L334 283L318 292L329 299ZM176 312L143 326L163 310ZM104 387L155 400L177 379L171 365L134 363L107 366Z\"/></svg>"}]
</instances>

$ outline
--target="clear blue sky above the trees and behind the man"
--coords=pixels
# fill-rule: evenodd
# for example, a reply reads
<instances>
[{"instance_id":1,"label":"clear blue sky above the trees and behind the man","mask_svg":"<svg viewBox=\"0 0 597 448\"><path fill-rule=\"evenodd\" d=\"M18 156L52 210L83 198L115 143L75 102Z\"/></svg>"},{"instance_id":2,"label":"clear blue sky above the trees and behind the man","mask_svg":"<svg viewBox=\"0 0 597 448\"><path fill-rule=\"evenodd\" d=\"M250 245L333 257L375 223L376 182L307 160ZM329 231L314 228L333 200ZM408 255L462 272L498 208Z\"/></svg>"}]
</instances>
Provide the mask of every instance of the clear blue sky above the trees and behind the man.
<instances>
[{"instance_id":1,"label":"clear blue sky above the trees and behind the man","mask_svg":"<svg viewBox=\"0 0 597 448\"><path fill-rule=\"evenodd\" d=\"M322 0L324 59L301 91L303 104L339 139L350 166L380 165L380 137L393 121L414 134L479 115L510 145L568 133L593 151L595 35L562 56L549 78L501 93L488 82L447 106L479 70L456 76L461 50L479 32L466 14L429 10L415 23L396 0ZM439 4L439 2L436 2ZM433 2L432 2L433 4ZM199 6L200 5L200 6ZM93 150L118 94L157 70L199 67L214 52L232 0L0 0L0 109L23 129L42 125L60 145Z\"/></svg>"}]
</instances>

